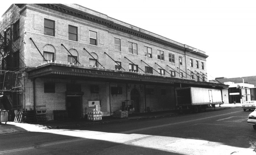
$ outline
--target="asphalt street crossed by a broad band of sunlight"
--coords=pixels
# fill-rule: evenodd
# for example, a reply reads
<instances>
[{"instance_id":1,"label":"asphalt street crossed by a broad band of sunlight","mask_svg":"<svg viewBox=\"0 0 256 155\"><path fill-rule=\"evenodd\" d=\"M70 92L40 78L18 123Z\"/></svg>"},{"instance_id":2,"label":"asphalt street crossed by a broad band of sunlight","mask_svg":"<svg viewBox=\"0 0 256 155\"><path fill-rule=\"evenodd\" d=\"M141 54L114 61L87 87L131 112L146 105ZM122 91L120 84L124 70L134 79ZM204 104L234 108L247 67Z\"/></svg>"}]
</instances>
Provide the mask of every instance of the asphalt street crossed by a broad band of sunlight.
<instances>
[{"instance_id":1,"label":"asphalt street crossed by a broad band of sunlight","mask_svg":"<svg viewBox=\"0 0 256 155\"><path fill-rule=\"evenodd\" d=\"M0 135L0 154L255 154L250 111L170 117Z\"/></svg>"}]
</instances>

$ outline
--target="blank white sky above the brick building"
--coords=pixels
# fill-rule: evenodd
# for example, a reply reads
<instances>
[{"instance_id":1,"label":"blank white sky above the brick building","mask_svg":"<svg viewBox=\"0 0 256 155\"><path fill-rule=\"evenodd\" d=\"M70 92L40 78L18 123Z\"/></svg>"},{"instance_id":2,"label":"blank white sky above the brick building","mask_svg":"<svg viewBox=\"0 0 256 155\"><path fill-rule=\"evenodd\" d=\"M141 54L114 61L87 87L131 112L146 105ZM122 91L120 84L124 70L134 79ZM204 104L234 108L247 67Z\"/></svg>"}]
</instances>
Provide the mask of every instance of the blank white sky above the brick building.
<instances>
[{"instance_id":1,"label":"blank white sky above the brick building","mask_svg":"<svg viewBox=\"0 0 256 155\"><path fill-rule=\"evenodd\" d=\"M15 3L1 2L0 15ZM206 52L208 80L256 76L255 0L45 0L75 3Z\"/></svg>"}]
</instances>

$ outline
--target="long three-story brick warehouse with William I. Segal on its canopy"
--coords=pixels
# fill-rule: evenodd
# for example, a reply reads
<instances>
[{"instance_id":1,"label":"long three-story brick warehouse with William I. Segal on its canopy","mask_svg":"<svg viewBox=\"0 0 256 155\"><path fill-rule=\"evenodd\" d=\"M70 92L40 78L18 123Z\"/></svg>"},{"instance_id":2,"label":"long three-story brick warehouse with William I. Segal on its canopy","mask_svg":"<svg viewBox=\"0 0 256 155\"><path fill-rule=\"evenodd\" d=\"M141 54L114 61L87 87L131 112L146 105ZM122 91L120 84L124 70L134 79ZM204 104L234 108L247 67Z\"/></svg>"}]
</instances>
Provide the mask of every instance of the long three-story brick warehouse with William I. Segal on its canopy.
<instances>
[{"instance_id":1,"label":"long three-story brick warehouse with William I. Segal on its canopy","mask_svg":"<svg viewBox=\"0 0 256 155\"><path fill-rule=\"evenodd\" d=\"M177 87L227 87L208 82L204 51L80 5L15 4L1 22L2 75L19 71L2 91L19 110L45 106L48 120L93 104L108 116L125 100L134 112L172 110Z\"/></svg>"}]
</instances>

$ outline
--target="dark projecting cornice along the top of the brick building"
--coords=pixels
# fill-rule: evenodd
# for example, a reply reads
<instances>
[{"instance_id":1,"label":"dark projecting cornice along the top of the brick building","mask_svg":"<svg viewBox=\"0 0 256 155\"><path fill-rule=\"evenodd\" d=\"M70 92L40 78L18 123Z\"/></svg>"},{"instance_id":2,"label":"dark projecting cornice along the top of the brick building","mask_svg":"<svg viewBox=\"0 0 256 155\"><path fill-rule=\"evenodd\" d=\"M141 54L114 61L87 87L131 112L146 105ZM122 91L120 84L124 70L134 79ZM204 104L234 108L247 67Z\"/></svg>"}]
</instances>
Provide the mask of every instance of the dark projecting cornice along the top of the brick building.
<instances>
[{"instance_id":1,"label":"dark projecting cornice along the top of the brick building","mask_svg":"<svg viewBox=\"0 0 256 155\"><path fill-rule=\"evenodd\" d=\"M17 4L17 5L21 6L21 4ZM113 21L110 21L108 19L104 19L104 18L95 16L95 15L89 14L87 12L77 10L77 9L68 7L68 6L63 5L63 4L37 4L37 5L48 8L48 9L52 9L54 11L65 13L65 14L68 14L68 15L71 15L71 16L75 16L77 18L81 18L81 19L85 19L85 20L88 20L88 21L91 21L91 22L95 22L95 23L104 25L106 27L112 28L114 30L121 31L121 32L130 34L130 35L134 35L134 36L146 39L146 40L151 41L151 42L159 43L159 44L171 47L171 48L176 49L176 50L181 50L181 51L186 50L185 47L182 47L182 46L177 45L175 43L165 41L165 40L157 38L155 36L145 34L143 32L134 30L132 28L125 27L123 25L114 23ZM197 56L203 57L203 58L208 57L207 55L205 55L203 53L200 53L200 54L198 52L191 52L191 53L193 53Z\"/></svg>"}]
</instances>

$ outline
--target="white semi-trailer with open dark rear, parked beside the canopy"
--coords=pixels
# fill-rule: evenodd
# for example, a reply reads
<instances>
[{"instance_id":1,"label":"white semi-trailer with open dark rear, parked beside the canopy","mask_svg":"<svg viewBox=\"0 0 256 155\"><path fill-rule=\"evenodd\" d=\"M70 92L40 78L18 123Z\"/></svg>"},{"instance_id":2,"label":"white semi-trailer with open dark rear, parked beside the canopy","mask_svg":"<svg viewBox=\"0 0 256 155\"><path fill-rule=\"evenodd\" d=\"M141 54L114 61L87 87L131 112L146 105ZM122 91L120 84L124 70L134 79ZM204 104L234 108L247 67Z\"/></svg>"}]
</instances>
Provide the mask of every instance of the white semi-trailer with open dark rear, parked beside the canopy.
<instances>
[{"instance_id":1,"label":"white semi-trailer with open dark rear, parked beside the canopy","mask_svg":"<svg viewBox=\"0 0 256 155\"><path fill-rule=\"evenodd\" d=\"M222 104L221 89L198 87L176 88L176 105L178 110L200 112L207 107Z\"/></svg>"}]
</instances>

